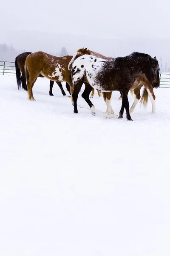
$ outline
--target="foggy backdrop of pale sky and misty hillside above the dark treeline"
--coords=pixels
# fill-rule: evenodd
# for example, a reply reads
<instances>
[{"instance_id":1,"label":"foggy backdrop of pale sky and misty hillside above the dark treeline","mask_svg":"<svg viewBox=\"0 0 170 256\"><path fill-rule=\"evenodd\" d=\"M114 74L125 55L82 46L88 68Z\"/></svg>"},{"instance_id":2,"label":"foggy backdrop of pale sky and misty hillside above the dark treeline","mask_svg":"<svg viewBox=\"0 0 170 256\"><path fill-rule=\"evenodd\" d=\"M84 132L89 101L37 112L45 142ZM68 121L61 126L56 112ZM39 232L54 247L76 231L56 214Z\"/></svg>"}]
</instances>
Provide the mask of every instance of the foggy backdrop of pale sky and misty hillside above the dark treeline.
<instances>
[{"instance_id":1,"label":"foggy backdrop of pale sky and misty hillside above the dark treeline","mask_svg":"<svg viewBox=\"0 0 170 256\"><path fill-rule=\"evenodd\" d=\"M64 46L73 54L93 47L111 56L138 50L166 58L169 7L168 0L3 1L0 43L27 51L57 52Z\"/></svg>"}]
</instances>

